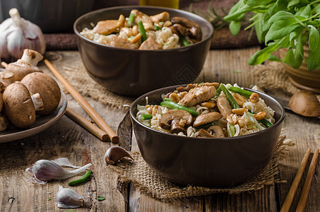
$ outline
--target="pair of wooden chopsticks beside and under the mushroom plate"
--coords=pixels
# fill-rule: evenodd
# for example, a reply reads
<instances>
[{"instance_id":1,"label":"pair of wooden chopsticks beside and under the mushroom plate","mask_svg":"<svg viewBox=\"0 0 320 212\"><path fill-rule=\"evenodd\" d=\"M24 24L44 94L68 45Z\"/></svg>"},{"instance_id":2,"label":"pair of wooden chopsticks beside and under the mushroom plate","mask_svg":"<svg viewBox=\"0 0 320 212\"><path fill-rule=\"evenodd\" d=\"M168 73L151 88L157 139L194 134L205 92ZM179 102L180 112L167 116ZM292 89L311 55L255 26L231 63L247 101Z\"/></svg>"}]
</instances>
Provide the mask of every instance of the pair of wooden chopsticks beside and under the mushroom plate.
<instances>
[{"instance_id":1,"label":"pair of wooden chopsticks beside and under the mushroom plate","mask_svg":"<svg viewBox=\"0 0 320 212\"><path fill-rule=\"evenodd\" d=\"M47 59L44 59L45 64L49 68L50 71L58 78L58 80L64 85L66 90L69 91L69 93L73 96L73 98L81 105L81 107L85 110L85 112L88 113L88 115L93 119L93 121L97 124L97 127L95 124L89 122L84 117L81 117L80 114L76 113L75 111L71 110L70 107L66 107L66 115L73 119L74 122L77 122L81 126L83 126L85 129L90 131L92 134L97 136L102 141L107 141L108 137L112 143L118 143L119 142L119 136L110 128L110 126L100 117L97 112L89 105L87 101L74 89L71 84L66 81L66 78L61 75L61 73L50 63ZM4 61L1 62L1 65L6 68L8 64L6 64Z\"/></svg>"}]
</instances>

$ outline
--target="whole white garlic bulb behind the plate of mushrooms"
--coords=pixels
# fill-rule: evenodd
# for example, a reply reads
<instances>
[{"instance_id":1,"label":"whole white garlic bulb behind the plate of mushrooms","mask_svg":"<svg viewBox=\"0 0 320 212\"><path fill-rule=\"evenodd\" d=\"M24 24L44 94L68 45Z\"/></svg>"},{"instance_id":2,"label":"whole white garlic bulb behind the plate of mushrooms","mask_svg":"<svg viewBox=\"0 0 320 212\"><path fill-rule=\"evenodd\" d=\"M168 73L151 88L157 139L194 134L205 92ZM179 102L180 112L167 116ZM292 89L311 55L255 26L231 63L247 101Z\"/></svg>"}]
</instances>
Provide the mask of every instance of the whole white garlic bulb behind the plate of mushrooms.
<instances>
[{"instance_id":1,"label":"whole white garlic bulb behind the plate of mushrooms","mask_svg":"<svg viewBox=\"0 0 320 212\"><path fill-rule=\"evenodd\" d=\"M0 57L16 61L23 55L23 49L45 53L45 37L40 27L20 17L16 8L9 11L11 18L0 24Z\"/></svg>"}]
</instances>

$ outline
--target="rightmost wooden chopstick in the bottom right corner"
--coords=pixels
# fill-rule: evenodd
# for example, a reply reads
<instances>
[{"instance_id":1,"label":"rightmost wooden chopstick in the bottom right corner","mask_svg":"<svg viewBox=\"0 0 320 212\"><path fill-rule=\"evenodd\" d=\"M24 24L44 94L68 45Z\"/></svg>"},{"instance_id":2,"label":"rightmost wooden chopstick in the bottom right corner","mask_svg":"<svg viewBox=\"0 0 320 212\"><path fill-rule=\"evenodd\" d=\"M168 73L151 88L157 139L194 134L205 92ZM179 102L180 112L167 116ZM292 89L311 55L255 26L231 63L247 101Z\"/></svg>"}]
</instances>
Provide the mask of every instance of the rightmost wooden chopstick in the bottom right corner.
<instances>
[{"instance_id":1,"label":"rightmost wooden chopstick in the bottom right corner","mask_svg":"<svg viewBox=\"0 0 320 212\"><path fill-rule=\"evenodd\" d=\"M304 211L304 206L306 206L309 190L311 187L312 177L314 175L314 170L316 169L316 163L318 163L318 156L319 156L319 149L317 148L316 151L314 152L314 156L312 157L296 211Z\"/></svg>"}]
</instances>

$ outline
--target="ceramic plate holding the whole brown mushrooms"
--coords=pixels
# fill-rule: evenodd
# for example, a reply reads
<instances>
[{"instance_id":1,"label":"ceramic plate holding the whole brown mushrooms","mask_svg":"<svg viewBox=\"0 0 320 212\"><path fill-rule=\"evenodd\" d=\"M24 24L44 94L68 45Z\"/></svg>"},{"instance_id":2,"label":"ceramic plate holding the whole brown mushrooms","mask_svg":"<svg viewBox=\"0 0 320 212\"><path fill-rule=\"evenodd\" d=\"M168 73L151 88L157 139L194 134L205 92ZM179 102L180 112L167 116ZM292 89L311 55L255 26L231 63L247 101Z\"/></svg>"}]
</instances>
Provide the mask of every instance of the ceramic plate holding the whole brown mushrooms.
<instances>
[{"instance_id":1,"label":"ceramic plate holding the whole brown mushrooms","mask_svg":"<svg viewBox=\"0 0 320 212\"><path fill-rule=\"evenodd\" d=\"M30 128L28 129L17 129L12 125L9 126L9 128L6 129L6 131L0 132L0 143L24 139L28 136L32 136L40 133L41 131L44 131L49 126L52 126L52 124L57 122L64 115L64 112L66 112L66 105L66 95L64 95L64 93L61 92L60 103L57 109L54 110L54 112L52 112L52 114L43 117L37 117L35 124L30 126Z\"/></svg>"}]
</instances>

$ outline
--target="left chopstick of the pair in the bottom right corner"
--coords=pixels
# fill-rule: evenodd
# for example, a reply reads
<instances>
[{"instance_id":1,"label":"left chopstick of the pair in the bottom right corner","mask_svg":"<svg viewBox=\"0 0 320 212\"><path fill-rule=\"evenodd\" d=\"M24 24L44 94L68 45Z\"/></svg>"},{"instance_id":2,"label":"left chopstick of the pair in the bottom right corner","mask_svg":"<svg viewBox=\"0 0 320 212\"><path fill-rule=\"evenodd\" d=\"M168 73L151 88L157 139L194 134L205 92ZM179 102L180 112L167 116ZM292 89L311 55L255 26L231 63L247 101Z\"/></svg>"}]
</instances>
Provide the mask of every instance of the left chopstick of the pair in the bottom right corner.
<instances>
[{"instance_id":1,"label":"left chopstick of the pair in the bottom right corner","mask_svg":"<svg viewBox=\"0 0 320 212\"><path fill-rule=\"evenodd\" d=\"M295 197L295 192L297 192L297 188L299 187L301 177L302 177L304 169L307 165L310 152L311 152L311 149L308 148L307 152L304 154L304 157L302 158L302 162L300 164L300 167L297 170L297 174L295 175L295 179L293 179L290 190L289 190L287 196L285 197L285 202L283 203L283 206L281 207L280 212L289 211L290 206L292 204L292 200Z\"/></svg>"}]
</instances>

